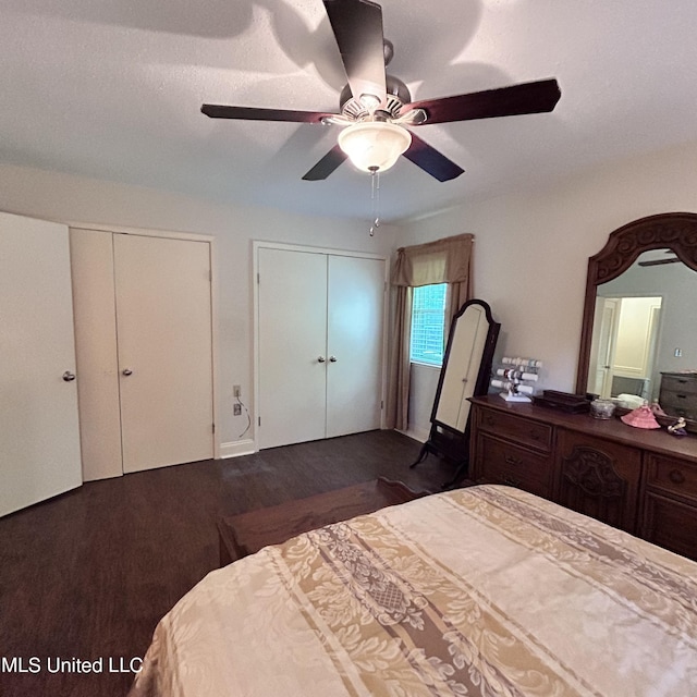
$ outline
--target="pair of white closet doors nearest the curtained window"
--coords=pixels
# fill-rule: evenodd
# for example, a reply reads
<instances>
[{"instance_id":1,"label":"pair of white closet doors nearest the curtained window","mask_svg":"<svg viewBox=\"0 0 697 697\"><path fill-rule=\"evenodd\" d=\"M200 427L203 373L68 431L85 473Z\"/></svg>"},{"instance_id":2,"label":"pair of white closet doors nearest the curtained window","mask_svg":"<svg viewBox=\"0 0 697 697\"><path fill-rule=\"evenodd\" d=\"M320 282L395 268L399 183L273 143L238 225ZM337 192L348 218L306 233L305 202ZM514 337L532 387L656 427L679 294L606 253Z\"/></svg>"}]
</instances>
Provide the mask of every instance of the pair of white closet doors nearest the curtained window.
<instances>
[{"instance_id":1,"label":"pair of white closet doors nearest the curtained window","mask_svg":"<svg viewBox=\"0 0 697 697\"><path fill-rule=\"evenodd\" d=\"M380 428L384 261L258 249L260 449Z\"/></svg>"}]
</instances>

